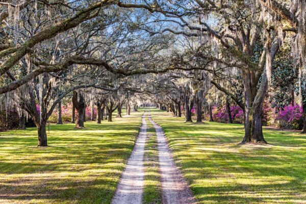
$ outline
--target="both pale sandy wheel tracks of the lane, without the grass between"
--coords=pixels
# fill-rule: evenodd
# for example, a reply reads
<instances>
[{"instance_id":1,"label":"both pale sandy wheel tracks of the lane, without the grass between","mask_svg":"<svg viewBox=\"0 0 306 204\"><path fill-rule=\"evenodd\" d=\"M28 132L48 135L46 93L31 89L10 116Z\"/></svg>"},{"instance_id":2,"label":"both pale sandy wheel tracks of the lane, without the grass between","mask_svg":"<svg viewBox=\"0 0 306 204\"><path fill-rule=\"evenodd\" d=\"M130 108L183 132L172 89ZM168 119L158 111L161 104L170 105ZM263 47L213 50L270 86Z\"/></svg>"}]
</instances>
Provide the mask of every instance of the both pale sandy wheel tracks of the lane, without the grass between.
<instances>
[{"instance_id":1,"label":"both pale sandy wheel tracks of the lane, without the grass between","mask_svg":"<svg viewBox=\"0 0 306 204\"><path fill-rule=\"evenodd\" d=\"M154 125L158 141L159 166L162 177L163 203L167 204L196 204L196 200L188 187L179 168L174 163L171 151L161 126ZM142 126L131 157L117 185L112 204L141 204L144 183L144 147L147 137L145 116L142 116Z\"/></svg>"}]
</instances>

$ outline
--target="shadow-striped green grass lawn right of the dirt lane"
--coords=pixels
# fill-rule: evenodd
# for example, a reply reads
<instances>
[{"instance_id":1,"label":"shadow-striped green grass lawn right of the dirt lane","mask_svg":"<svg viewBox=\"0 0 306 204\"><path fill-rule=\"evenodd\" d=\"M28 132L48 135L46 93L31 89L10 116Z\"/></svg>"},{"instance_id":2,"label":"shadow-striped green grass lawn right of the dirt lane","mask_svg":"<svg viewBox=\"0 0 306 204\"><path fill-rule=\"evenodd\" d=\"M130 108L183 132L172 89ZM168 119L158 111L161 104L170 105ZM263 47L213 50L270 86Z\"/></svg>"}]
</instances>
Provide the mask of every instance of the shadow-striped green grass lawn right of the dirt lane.
<instances>
[{"instance_id":1,"label":"shadow-striped green grass lawn right of the dirt lane","mask_svg":"<svg viewBox=\"0 0 306 204\"><path fill-rule=\"evenodd\" d=\"M152 115L199 203L306 203L306 135L265 129L268 145L240 145L241 124Z\"/></svg>"}]
</instances>

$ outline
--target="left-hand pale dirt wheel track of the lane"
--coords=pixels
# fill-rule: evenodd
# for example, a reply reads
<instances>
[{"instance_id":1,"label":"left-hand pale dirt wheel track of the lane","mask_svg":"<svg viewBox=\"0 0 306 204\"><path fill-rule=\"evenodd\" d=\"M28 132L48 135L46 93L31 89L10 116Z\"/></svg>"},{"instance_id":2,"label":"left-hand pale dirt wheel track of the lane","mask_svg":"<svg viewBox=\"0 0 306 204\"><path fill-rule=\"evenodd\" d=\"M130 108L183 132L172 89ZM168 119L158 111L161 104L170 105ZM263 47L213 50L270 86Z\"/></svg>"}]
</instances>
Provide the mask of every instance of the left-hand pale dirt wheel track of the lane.
<instances>
[{"instance_id":1,"label":"left-hand pale dirt wheel track of the lane","mask_svg":"<svg viewBox=\"0 0 306 204\"><path fill-rule=\"evenodd\" d=\"M141 204L143 193L143 155L147 136L145 116L142 116L142 126L136 140L131 157L122 173L112 204Z\"/></svg>"}]
</instances>

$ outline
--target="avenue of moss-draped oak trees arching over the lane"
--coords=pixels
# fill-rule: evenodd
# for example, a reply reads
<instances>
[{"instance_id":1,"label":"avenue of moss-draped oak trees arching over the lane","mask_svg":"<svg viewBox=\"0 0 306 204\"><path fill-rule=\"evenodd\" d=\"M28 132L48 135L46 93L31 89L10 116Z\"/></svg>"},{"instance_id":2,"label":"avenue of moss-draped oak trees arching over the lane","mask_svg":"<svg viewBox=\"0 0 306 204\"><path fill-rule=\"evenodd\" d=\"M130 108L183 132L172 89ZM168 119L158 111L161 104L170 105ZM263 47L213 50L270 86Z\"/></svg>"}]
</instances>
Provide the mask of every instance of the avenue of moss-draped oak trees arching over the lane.
<instances>
[{"instance_id":1,"label":"avenue of moss-draped oak trees arching over the lane","mask_svg":"<svg viewBox=\"0 0 306 204\"><path fill-rule=\"evenodd\" d=\"M145 103L202 123L224 106L233 123L237 106L242 143L266 143L266 105L297 104L305 132L305 8L278 0L0 2L0 106L18 113L20 128L33 120L39 146L48 144L54 111L62 124L63 105L73 106L76 128L86 127L87 108L97 123Z\"/></svg>"}]
</instances>

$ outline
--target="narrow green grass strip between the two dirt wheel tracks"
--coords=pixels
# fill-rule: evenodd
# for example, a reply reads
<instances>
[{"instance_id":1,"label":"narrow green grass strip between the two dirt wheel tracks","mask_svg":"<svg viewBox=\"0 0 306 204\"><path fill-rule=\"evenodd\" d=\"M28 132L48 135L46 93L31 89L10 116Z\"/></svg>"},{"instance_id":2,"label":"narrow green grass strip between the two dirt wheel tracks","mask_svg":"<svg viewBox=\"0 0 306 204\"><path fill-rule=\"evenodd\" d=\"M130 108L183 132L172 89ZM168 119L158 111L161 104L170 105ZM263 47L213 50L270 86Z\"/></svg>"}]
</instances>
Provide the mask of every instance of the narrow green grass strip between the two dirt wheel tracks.
<instances>
[{"instance_id":1,"label":"narrow green grass strip between the two dirt wheel tracks","mask_svg":"<svg viewBox=\"0 0 306 204\"><path fill-rule=\"evenodd\" d=\"M143 203L158 204L162 203L162 187L159 170L157 137L155 128L152 126L148 118L146 118L146 123L148 129L144 153L145 177Z\"/></svg>"}]
</instances>

